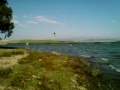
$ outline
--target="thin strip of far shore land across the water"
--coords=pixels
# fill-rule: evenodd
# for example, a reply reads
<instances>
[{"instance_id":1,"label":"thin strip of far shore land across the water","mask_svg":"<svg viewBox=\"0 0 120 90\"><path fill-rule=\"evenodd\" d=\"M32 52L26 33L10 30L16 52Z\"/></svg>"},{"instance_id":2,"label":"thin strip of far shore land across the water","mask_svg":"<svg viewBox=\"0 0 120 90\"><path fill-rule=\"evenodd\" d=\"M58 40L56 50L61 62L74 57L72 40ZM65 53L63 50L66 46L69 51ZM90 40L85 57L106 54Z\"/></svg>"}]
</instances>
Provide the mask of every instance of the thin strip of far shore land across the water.
<instances>
[{"instance_id":1,"label":"thin strip of far shore land across the water","mask_svg":"<svg viewBox=\"0 0 120 90\"><path fill-rule=\"evenodd\" d=\"M61 40L3 40L0 45L3 44L18 44L18 43L40 43L40 44L110 44L110 43L120 43L120 40L115 41L61 41Z\"/></svg>"}]
</instances>

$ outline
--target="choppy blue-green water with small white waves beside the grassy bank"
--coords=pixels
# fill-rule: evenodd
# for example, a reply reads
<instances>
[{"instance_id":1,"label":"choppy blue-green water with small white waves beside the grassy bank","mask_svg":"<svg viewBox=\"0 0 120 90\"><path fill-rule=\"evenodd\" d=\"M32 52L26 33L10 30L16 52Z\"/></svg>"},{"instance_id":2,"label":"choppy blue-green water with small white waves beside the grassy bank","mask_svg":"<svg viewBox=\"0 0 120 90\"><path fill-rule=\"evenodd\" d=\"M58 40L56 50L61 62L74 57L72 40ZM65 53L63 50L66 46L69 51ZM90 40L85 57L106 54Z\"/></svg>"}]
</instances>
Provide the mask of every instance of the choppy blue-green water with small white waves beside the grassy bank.
<instances>
[{"instance_id":1,"label":"choppy blue-green water with small white waves beside the grassy bank","mask_svg":"<svg viewBox=\"0 0 120 90\"><path fill-rule=\"evenodd\" d=\"M25 43L7 44L6 47L26 48ZM108 82L120 87L120 42L116 43L62 43L29 44L30 50L67 54L80 57L99 68ZM119 88L120 89L120 88ZM118 90L119 90L118 89Z\"/></svg>"}]
</instances>

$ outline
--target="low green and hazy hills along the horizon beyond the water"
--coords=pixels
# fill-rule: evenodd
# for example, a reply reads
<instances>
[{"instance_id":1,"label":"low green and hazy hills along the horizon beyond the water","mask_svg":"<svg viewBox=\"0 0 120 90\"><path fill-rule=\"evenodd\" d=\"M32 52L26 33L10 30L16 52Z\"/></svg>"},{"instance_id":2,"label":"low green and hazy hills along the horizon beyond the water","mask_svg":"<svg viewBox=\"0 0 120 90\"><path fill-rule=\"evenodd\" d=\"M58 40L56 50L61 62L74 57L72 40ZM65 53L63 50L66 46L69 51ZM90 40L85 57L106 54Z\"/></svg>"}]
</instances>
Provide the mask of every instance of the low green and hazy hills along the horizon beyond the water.
<instances>
[{"instance_id":1,"label":"low green and hazy hills along the horizon beyond the water","mask_svg":"<svg viewBox=\"0 0 120 90\"><path fill-rule=\"evenodd\" d=\"M3 42L3 41L2 41ZM63 40L6 40L4 43L114 43L120 42L120 40L84 40L84 41L63 41Z\"/></svg>"}]
</instances>

